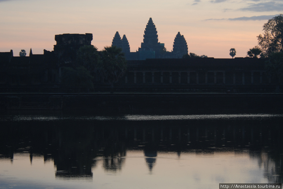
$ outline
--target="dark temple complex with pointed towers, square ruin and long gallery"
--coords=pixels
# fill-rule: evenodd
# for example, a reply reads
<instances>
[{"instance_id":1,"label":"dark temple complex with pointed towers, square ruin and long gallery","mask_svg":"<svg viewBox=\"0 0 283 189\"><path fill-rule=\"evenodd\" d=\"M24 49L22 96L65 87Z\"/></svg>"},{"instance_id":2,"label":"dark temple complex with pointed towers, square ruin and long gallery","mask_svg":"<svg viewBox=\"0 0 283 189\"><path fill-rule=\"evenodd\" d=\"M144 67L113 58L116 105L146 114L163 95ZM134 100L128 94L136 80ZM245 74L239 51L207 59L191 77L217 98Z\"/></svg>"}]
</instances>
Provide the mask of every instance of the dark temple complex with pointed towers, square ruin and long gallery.
<instances>
[{"instance_id":1,"label":"dark temple complex with pointed towers, square ruin and long gallery","mask_svg":"<svg viewBox=\"0 0 283 189\"><path fill-rule=\"evenodd\" d=\"M76 52L91 45L92 34L55 35L53 51L14 57L13 50L0 52L0 91L68 92L61 83L62 68L75 67ZM262 58L182 58L188 45L180 32L173 50L158 42L152 18L144 30L143 42L130 52L126 35L117 31L112 46L121 47L127 72L115 84L116 91L192 91L192 92L275 92L283 80L272 78ZM228 53L228 52L227 52ZM107 91L108 82L95 72L94 91Z\"/></svg>"}]
</instances>

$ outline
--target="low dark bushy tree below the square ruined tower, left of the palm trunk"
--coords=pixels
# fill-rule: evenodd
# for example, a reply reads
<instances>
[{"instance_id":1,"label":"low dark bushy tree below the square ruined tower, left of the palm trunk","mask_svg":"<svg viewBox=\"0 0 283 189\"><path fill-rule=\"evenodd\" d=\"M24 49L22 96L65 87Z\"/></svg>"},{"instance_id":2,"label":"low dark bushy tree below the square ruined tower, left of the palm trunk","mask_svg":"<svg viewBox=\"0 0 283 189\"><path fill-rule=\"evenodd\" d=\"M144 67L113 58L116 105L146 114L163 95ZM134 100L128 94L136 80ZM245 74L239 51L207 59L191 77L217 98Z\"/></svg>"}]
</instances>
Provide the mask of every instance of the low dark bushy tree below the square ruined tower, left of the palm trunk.
<instances>
[{"instance_id":1,"label":"low dark bushy tree below the square ruined tower, left of the palm trunk","mask_svg":"<svg viewBox=\"0 0 283 189\"><path fill-rule=\"evenodd\" d=\"M85 67L77 68L63 67L62 68L62 84L68 88L80 91L80 89L93 89L93 77Z\"/></svg>"}]
</instances>

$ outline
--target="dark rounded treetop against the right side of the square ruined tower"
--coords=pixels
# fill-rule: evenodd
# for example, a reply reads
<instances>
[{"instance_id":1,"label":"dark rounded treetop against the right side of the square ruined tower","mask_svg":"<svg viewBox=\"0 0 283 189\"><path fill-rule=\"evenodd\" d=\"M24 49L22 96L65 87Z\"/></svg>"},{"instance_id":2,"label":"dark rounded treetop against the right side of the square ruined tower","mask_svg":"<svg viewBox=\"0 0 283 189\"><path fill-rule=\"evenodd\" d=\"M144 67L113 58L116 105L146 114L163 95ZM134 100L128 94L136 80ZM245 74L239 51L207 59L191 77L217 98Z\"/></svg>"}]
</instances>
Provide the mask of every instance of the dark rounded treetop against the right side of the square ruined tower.
<instances>
[{"instance_id":1,"label":"dark rounded treetop against the right side of the square ruined tower","mask_svg":"<svg viewBox=\"0 0 283 189\"><path fill-rule=\"evenodd\" d=\"M93 45L85 45L80 47L77 51L76 66L83 66L93 72L98 59L97 48Z\"/></svg>"}]
</instances>

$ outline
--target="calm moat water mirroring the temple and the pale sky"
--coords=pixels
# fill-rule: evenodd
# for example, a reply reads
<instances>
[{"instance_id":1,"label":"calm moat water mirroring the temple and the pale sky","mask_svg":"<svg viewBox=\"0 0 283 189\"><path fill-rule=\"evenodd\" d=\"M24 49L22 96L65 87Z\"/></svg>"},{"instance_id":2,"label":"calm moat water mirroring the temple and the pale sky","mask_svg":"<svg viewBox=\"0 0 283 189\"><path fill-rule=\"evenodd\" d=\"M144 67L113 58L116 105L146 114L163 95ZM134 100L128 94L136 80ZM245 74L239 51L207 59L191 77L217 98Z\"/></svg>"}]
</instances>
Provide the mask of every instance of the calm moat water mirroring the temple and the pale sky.
<instances>
[{"instance_id":1,"label":"calm moat water mirroring the temple and the pale sky","mask_svg":"<svg viewBox=\"0 0 283 189\"><path fill-rule=\"evenodd\" d=\"M0 116L0 188L282 183L282 114Z\"/></svg>"}]
</instances>

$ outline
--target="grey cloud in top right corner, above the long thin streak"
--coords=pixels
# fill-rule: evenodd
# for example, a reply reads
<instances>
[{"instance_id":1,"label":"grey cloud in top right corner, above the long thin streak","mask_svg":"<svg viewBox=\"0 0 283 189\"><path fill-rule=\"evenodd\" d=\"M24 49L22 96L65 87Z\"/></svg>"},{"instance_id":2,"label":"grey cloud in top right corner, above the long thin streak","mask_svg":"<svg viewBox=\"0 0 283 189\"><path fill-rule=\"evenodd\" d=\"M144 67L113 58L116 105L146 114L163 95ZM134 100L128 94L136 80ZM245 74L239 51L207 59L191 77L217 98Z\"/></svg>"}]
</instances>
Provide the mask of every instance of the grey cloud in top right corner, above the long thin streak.
<instances>
[{"instance_id":1,"label":"grey cloud in top right corner, above the long thin streak","mask_svg":"<svg viewBox=\"0 0 283 189\"><path fill-rule=\"evenodd\" d=\"M263 3L249 3L247 7L240 8L241 11L266 12L283 11L282 1L268 1Z\"/></svg>"}]
</instances>

